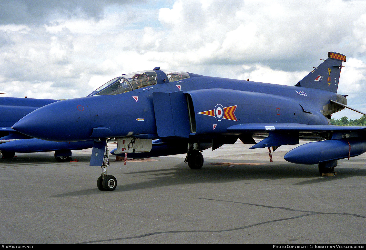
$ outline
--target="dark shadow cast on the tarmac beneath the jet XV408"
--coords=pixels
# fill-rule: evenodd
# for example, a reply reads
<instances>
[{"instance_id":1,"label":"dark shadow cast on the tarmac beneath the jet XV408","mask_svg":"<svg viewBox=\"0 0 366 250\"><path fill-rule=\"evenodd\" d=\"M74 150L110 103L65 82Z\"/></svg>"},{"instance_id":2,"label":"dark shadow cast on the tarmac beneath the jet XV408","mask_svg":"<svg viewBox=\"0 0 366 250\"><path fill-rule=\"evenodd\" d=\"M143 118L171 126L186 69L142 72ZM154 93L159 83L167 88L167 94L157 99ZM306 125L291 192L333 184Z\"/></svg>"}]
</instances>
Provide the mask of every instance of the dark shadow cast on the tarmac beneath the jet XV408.
<instances>
[{"instance_id":1,"label":"dark shadow cast on the tarmac beneath the jet XV408","mask_svg":"<svg viewBox=\"0 0 366 250\"><path fill-rule=\"evenodd\" d=\"M243 181L250 184L251 180L262 179L262 181L271 181L278 179L299 179L306 178L304 181L298 182L295 180L292 185L310 185L314 183L324 183L339 181L343 178L353 176L365 176L366 170L359 168L336 168L339 174L336 176L322 177L318 172L318 166L315 165L300 165L282 162L270 165L236 165L224 164L215 165L207 162L199 170L191 170L186 163L176 164L174 167L161 168L156 170L132 171L117 175L116 169L113 170L117 177L117 188L112 192L126 192L139 189L158 188L163 186L173 185L190 185L197 183L227 183ZM233 167L229 167L232 166ZM132 167L133 168L133 167ZM128 177L126 176L128 175ZM146 178L147 177L147 178ZM123 183L123 180L128 178L129 182L136 179L134 183ZM141 181L141 178L144 181ZM311 178L311 179L309 179ZM78 190L74 192L58 194L59 196L83 196L95 194L100 191L97 188Z\"/></svg>"}]
</instances>

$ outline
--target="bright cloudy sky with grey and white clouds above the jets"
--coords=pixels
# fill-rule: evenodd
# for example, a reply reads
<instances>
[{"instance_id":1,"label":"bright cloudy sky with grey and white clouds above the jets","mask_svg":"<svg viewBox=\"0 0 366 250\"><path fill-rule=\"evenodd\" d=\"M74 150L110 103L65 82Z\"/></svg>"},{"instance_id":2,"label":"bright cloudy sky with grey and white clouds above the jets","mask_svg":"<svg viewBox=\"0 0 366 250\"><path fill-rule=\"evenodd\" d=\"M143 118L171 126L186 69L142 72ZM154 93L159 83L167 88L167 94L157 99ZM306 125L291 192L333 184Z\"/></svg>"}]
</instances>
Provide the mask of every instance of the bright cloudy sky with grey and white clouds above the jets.
<instances>
[{"instance_id":1,"label":"bright cloudy sky with grey and white clouds above the jets","mask_svg":"<svg viewBox=\"0 0 366 250\"><path fill-rule=\"evenodd\" d=\"M86 96L108 80L160 66L295 85L347 56L339 94L366 112L363 0L0 0L0 92ZM354 111L333 114L358 119Z\"/></svg>"}]
</instances>

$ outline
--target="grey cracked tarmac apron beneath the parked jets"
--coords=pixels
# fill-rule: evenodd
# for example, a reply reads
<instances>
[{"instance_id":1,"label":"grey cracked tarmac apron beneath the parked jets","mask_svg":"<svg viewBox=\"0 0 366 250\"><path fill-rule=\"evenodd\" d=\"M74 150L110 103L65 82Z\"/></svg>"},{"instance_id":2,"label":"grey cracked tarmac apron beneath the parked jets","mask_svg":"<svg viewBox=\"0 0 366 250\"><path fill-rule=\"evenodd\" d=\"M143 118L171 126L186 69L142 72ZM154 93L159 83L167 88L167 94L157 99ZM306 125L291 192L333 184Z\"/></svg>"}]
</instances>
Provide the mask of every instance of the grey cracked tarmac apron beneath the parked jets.
<instances>
[{"instance_id":1,"label":"grey cracked tarmac apron beneath the parked jets","mask_svg":"<svg viewBox=\"0 0 366 250\"><path fill-rule=\"evenodd\" d=\"M109 145L114 149L116 145ZM78 162L53 152L0 159L0 243L365 243L365 155L339 160L337 175L286 162L295 146L116 161L114 191L97 189L91 149Z\"/></svg>"}]
</instances>

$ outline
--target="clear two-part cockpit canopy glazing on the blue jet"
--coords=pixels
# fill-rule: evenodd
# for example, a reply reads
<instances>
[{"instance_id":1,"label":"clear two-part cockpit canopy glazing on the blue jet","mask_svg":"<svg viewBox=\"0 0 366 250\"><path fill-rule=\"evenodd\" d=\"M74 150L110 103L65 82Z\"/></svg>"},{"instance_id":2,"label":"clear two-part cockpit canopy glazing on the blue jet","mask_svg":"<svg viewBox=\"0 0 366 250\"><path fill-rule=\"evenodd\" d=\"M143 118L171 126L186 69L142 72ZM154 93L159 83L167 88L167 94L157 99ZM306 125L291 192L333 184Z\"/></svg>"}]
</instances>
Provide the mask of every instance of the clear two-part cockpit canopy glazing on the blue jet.
<instances>
[{"instance_id":1,"label":"clear two-part cockpit canopy glazing on the blue jet","mask_svg":"<svg viewBox=\"0 0 366 250\"><path fill-rule=\"evenodd\" d=\"M187 72L171 70L162 71L168 77L169 82L175 82L190 77ZM122 94L138 88L155 85L157 82L158 76L153 70L134 72L110 80L91 92L88 96Z\"/></svg>"}]
</instances>

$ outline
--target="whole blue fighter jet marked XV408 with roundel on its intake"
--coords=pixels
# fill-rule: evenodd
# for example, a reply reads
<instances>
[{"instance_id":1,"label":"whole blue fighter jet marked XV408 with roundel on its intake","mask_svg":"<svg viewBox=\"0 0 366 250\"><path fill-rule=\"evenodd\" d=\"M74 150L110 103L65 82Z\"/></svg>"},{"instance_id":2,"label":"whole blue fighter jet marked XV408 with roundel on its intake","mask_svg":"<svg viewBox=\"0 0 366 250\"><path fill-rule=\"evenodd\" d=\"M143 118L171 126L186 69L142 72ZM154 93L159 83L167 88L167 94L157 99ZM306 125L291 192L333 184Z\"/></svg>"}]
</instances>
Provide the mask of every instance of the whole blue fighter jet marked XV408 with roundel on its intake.
<instances>
[{"instance_id":1,"label":"whole blue fighter jet marked XV408 with roundel on its intake","mask_svg":"<svg viewBox=\"0 0 366 250\"><path fill-rule=\"evenodd\" d=\"M107 191L117 185L107 175L111 139L117 141L115 155L186 153L192 169L202 167L202 150L238 139L255 144L251 148L273 150L312 139L288 152L285 160L318 164L321 174L333 173L338 159L366 151L366 127L330 125L331 114L350 108L347 95L337 94L343 61L343 54L329 52L295 86L156 67L116 77L89 96L40 107L12 128L42 140L94 140L90 165L103 168L97 187ZM256 143L256 136L264 139Z\"/></svg>"}]
</instances>

